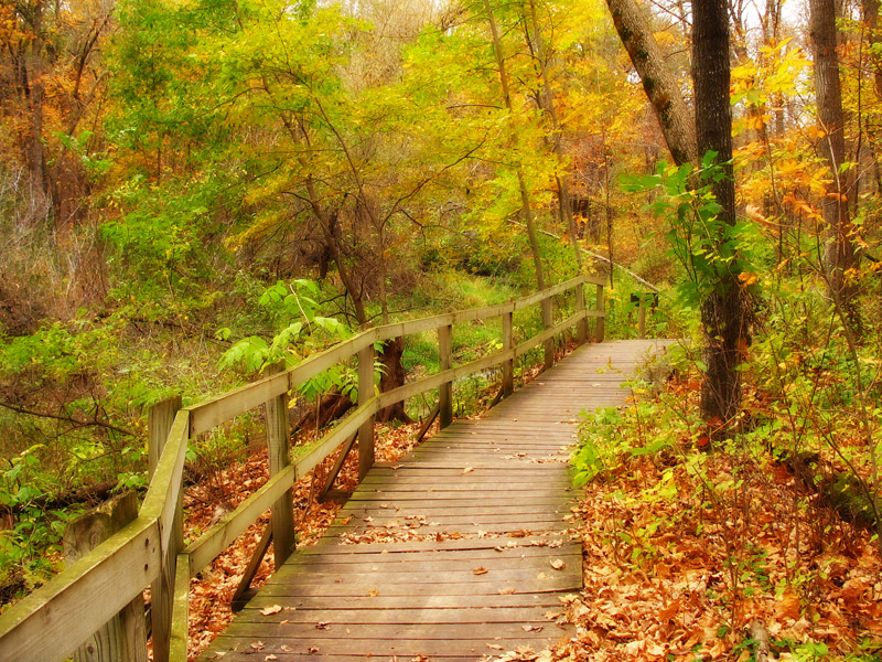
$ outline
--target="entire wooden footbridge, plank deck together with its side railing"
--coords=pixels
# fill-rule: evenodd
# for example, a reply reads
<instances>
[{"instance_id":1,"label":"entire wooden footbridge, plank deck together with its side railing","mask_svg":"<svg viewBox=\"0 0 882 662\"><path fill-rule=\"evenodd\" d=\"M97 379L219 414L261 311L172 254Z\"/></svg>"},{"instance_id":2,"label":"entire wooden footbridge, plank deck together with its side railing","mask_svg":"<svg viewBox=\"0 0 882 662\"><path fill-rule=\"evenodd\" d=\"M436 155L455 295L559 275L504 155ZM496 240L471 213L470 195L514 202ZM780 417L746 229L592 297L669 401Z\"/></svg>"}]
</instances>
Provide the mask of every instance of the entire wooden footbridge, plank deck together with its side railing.
<instances>
[{"instance_id":1,"label":"entire wooden footbridge, plank deck together with its side railing","mask_svg":"<svg viewBox=\"0 0 882 662\"><path fill-rule=\"evenodd\" d=\"M598 289L595 310L585 307L585 284ZM499 306L378 327L198 405L182 409L179 398L155 406L152 478L138 516L0 617L0 661L63 660L84 645L104 652L103 659L146 660L147 586L154 660L186 660L190 578L268 509L279 569L205 659L475 660L552 643L566 634L553 618L559 598L581 587L581 547L568 535L566 519L567 457L578 414L622 403L622 381L657 346L587 344L551 367L556 335L572 333L583 342L588 320L595 318L595 340L603 338L602 290L602 280L581 277ZM517 343L514 316L536 305L544 329ZM454 366L454 325L495 317L502 350ZM431 330L438 330L440 372L376 394L374 344ZM547 370L513 393L515 359L539 344ZM287 393L354 356L359 406L292 462ZM493 365L502 366L507 397L478 420L452 423L454 380ZM374 415L432 388L439 389L442 431L400 465L374 466ZM187 441L261 405L270 479L184 547ZM361 487L318 545L294 552L293 481L331 455L341 463L356 437Z\"/></svg>"}]
</instances>

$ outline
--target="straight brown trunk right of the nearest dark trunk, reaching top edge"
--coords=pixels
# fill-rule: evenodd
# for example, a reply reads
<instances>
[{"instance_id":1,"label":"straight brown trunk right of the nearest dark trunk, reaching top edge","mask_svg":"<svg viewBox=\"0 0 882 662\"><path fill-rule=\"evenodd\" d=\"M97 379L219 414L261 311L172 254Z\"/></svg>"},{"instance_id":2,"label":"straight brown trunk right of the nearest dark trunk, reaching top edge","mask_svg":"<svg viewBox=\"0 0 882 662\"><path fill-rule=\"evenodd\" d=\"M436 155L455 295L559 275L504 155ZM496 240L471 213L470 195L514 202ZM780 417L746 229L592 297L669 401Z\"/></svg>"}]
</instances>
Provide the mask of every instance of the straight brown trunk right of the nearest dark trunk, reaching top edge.
<instances>
[{"instance_id":1,"label":"straight brown trunk right of the nearest dark trunk, reaching top edge","mask_svg":"<svg viewBox=\"0 0 882 662\"><path fill-rule=\"evenodd\" d=\"M851 288L847 287L845 273L854 264L851 243L851 224L848 214L850 175L840 171L846 161L845 114L842 87L839 82L839 57L836 52L836 6L833 0L809 0L811 49L815 57L815 96L818 121L826 132L819 147L830 169L833 189L821 202L821 214L827 226L824 269L835 297L848 307Z\"/></svg>"}]
</instances>

